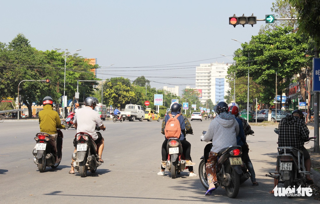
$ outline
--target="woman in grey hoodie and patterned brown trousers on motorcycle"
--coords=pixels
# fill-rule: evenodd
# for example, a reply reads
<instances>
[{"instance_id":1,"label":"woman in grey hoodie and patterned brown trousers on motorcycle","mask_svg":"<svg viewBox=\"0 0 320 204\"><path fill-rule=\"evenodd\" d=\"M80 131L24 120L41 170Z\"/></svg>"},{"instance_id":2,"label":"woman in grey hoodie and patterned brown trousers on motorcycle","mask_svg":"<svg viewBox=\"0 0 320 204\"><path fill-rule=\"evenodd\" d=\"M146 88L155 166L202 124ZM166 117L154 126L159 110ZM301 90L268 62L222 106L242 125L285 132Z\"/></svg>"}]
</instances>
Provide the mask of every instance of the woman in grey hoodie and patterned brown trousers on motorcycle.
<instances>
[{"instance_id":1,"label":"woman in grey hoodie and patterned brown trousers on motorcycle","mask_svg":"<svg viewBox=\"0 0 320 204\"><path fill-rule=\"evenodd\" d=\"M239 124L235 116L228 112L227 103L219 102L213 110L218 115L211 121L208 131L201 136L201 140L204 142L212 140L212 149L205 166L209 184L209 190L205 193L206 196L211 195L216 190L218 152L223 148L237 145L236 136L239 134Z\"/></svg>"}]
</instances>

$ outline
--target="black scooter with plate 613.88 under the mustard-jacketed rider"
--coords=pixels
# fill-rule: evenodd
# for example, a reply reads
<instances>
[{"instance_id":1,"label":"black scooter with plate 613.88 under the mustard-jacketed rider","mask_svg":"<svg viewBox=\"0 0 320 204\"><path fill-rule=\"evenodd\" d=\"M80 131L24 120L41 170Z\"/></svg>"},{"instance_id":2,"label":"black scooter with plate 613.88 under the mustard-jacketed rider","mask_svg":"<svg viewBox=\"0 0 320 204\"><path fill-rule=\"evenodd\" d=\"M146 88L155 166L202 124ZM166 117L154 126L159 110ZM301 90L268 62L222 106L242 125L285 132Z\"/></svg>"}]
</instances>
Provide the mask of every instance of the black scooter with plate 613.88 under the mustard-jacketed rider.
<instances>
[{"instance_id":1,"label":"black scooter with plate 613.88 under the mustard-jacketed rider","mask_svg":"<svg viewBox=\"0 0 320 204\"><path fill-rule=\"evenodd\" d=\"M36 146L32 151L35 156L33 161L38 166L40 172L44 172L46 167L57 168L62 158L63 134L57 129L57 142L54 137L47 133L37 133Z\"/></svg>"}]
</instances>

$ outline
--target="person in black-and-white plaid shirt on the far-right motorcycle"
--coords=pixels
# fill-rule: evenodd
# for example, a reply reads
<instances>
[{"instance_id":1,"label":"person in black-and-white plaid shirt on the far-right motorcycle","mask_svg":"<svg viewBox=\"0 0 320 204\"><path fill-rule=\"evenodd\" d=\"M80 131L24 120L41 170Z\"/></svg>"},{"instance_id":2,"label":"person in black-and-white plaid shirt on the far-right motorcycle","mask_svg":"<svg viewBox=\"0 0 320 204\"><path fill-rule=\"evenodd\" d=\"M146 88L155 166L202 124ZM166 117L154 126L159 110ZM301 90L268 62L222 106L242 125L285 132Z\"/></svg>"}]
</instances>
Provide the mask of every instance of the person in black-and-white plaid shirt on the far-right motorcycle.
<instances>
[{"instance_id":1,"label":"person in black-and-white plaid shirt on the far-right motorcycle","mask_svg":"<svg viewBox=\"0 0 320 204\"><path fill-rule=\"evenodd\" d=\"M279 122L279 147L294 147L303 151L306 171L311 169L311 160L308 150L303 145L309 141L309 133L301 110L294 110L292 115L287 115ZM306 175L306 179L312 183L310 175Z\"/></svg>"}]
</instances>

